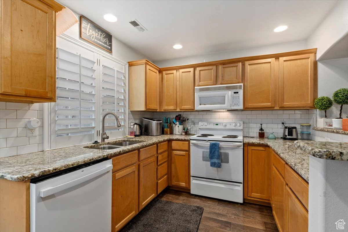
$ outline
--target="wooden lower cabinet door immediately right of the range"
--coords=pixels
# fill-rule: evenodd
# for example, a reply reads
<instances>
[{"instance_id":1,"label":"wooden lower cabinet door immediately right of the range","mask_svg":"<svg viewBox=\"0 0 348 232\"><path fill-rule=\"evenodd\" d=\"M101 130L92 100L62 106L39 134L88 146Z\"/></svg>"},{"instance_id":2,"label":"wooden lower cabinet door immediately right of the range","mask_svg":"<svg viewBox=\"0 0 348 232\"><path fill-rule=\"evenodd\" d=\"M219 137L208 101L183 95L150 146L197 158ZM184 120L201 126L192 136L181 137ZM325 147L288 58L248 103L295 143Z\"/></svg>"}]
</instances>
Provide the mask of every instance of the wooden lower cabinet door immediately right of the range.
<instances>
[{"instance_id":1,"label":"wooden lower cabinet door immediately right of the range","mask_svg":"<svg viewBox=\"0 0 348 232\"><path fill-rule=\"evenodd\" d=\"M247 197L269 200L270 155L267 146L248 145Z\"/></svg>"}]
</instances>

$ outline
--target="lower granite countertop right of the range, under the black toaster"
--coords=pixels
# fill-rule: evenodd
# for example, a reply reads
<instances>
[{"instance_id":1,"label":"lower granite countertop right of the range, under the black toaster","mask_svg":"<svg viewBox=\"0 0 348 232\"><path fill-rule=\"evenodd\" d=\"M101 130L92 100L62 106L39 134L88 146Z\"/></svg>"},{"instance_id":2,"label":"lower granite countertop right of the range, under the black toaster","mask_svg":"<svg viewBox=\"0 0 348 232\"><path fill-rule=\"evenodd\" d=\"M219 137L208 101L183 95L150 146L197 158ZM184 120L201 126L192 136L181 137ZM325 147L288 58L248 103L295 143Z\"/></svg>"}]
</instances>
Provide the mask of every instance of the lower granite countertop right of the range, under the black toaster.
<instances>
[{"instance_id":1,"label":"lower granite countertop right of the range, under the black toaster","mask_svg":"<svg viewBox=\"0 0 348 232\"><path fill-rule=\"evenodd\" d=\"M249 138L244 137L244 143L268 145L282 158L296 173L309 182L309 154L298 149L294 141L281 138Z\"/></svg>"}]
</instances>

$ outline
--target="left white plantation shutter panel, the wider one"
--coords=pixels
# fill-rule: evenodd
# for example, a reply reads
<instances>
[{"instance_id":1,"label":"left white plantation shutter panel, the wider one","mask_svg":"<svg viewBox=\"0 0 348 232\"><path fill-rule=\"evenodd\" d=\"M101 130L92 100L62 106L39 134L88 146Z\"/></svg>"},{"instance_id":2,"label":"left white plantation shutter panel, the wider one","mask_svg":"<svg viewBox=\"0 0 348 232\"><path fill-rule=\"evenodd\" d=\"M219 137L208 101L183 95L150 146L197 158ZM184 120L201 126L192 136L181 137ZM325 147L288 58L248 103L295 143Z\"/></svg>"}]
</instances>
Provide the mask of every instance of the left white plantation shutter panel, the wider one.
<instances>
[{"instance_id":1,"label":"left white plantation shutter panel, the wider one","mask_svg":"<svg viewBox=\"0 0 348 232\"><path fill-rule=\"evenodd\" d=\"M57 48L54 147L87 143L95 137L96 62L94 53L78 50Z\"/></svg>"}]
</instances>

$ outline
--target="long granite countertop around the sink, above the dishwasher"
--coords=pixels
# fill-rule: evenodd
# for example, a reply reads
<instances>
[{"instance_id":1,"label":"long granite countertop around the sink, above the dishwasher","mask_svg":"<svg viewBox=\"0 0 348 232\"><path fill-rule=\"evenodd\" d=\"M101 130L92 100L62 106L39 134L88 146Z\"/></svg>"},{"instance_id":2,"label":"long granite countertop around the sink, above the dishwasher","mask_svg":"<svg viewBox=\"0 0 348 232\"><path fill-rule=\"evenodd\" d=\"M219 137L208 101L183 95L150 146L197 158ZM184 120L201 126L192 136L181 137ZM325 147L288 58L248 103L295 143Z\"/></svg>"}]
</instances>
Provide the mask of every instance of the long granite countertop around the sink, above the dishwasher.
<instances>
[{"instance_id":1,"label":"long granite countertop around the sink, above the dishwasher","mask_svg":"<svg viewBox=\"0 0 348 232\"><path fill-rule=\"evenodd\" d=\"M190 140L191 135L159 135L140 136L135 138L119 138L100 144L80 144L52 150L16 155L0 159L0 178L10 181L26 181L55 171L64 170L84 163L117 156L129 151L141 149L169 139ZM97 150L95 147L122 141L141 142L113 150Z\"/></svg>"}]
</instances>

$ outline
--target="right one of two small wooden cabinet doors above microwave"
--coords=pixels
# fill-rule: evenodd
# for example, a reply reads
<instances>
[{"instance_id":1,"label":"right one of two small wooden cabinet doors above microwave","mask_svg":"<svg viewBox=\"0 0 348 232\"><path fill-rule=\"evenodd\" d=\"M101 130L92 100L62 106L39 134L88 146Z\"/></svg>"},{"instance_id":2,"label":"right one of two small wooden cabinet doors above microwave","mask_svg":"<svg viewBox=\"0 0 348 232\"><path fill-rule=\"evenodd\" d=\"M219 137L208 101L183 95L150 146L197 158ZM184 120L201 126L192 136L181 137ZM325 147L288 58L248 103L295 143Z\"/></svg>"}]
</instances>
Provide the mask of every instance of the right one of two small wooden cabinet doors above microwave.
<instances>
[{"instance_id":1,"label":"right one of two small wooden cabinet doors above microwave","mask_svg":"<svg viewBox=\"0 0 348 232\"><path fill-rule=\"evenodd\" d=\"M221 85L242 83L242 62L219 65Z\"/></svg>"}]
</instances>

